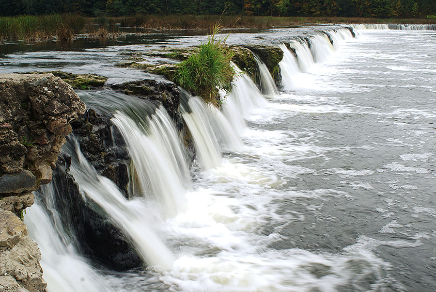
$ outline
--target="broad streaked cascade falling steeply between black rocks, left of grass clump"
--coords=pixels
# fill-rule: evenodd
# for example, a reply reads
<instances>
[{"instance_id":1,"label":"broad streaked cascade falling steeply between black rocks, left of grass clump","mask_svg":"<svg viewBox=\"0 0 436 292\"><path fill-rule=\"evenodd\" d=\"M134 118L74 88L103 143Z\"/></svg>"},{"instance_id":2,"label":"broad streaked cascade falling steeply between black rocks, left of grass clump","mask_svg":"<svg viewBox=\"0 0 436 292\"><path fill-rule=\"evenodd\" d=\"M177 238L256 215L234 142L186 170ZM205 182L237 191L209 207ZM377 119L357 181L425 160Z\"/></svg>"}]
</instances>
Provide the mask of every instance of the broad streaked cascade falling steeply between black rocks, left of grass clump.
<instances>
[{"instance_id":1,"label":"broad streaked cascade falling steeply between black rocks, left of grass clump","mask_svg":"<svg viewBox=\"0 0 436 292\"><path fill-rule=\"evenodd\" d=\"M145 120L138 123L117 111L111 121L127 142L142 194L158 202L167 216L173 216L183 206L183 195L189 187L187 159L163 108Z\"/></svg>"}]
</instances>

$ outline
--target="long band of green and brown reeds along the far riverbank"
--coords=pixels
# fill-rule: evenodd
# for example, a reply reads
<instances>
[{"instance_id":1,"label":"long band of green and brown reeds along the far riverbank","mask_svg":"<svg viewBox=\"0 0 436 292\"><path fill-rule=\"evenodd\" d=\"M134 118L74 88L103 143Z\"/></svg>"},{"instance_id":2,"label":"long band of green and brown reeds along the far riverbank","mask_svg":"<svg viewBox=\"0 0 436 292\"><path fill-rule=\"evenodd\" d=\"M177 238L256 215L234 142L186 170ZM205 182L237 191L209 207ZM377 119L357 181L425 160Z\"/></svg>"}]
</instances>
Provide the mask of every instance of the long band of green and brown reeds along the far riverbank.
<instances>
[{"instance_id":1,"label":"long band of green and brown reeds along the far riverbank","mask_svg":"<svg viewBox=\"0 0 436 292\"><path fill-rule=\"evenodd\" d=\"M221 20L223 29L278 28L312 23L436 23L436 16L420 18L303 17L303 16L218 16L218 15L133 15L84 17L76 14L0 17L0 40L70 40L74 35L113 38L123 36L123 27L150 30L209 30ZM142 32L147 33L147 31Z\"/></svg>"}]
</instances>

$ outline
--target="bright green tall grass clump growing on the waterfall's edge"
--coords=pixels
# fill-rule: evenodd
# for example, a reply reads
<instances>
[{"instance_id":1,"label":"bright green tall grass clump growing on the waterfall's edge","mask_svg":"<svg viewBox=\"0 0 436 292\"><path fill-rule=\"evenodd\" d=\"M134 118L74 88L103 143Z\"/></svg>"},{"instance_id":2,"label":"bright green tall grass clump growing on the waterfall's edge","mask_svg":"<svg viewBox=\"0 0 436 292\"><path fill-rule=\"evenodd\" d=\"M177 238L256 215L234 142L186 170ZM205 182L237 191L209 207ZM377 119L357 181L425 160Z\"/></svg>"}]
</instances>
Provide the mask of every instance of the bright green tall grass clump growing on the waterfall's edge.
<instances>
[{"instance_id":1,"label":"bright green tall grass clump growing on the waterfall's edge","mask_svg":"<svg viewBox=\"0 0 436 292\"><path fill-rule=\"evenodd\" d=\"M227 37L218 37L220 26L215 25L207 42L199 46L197 53L191 55L177 67L173 80L183 88L202 97L205 101L219 106L219 90L232 91L235 75L230 63L234 53L227 49Z\"/></svg>"}]
</instances>

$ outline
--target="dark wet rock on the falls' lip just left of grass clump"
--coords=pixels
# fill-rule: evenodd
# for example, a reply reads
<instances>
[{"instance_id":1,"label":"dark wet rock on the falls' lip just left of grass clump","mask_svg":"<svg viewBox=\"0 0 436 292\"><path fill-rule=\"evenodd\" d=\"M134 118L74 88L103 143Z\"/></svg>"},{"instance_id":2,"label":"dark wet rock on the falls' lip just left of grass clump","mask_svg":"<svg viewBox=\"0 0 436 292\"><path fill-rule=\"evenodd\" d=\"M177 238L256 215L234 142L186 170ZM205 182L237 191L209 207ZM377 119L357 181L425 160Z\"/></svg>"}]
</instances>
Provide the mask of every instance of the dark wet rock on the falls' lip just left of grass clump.
<instances>
[{"instance_id":1,"label":"dark wet rock on the falls' lip just left of grass clump","mask_svg":"<svg viewBox=\"0 0 436 292\"><path fill-rule=\"evenodd\" d=\"M113 84L110 87L126 95L159 101L167 110L178 130L183 128L182 118L179 113L180 91L173 82L164 79L144 79Z\"/></svg>"}]
</instances>

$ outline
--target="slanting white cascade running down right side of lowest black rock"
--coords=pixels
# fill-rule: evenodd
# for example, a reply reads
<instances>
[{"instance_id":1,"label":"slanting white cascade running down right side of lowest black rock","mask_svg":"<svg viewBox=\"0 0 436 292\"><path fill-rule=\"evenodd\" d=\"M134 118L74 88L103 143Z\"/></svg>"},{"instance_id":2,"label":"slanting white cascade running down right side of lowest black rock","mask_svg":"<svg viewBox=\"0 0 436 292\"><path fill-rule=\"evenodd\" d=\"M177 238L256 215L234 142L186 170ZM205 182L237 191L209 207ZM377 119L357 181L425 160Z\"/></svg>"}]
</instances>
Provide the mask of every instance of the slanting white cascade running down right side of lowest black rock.
<instances>
[{"instance_id":1,"label":"slanting white cascade running down right side of lowest black rock","mask_svg":"<svg viewBox=\"0 0 436 292\"><path fill-rule=\"evenodd\" d=\"M72 153L76 161L71 164L70 173L78 183L80 192L100 206L108 214L109 220L130 238L144 262L158 269L169 269L173 256L153 230L156 219L148 215L153 214L152 208L147 207L142 198L125 199L117 186L109 178L99 175L86 160L76 140L69 141L69 144L70 149L74 148L76 152ZM160 175L154 170L151 172Z\"/></svg>"}]
</instances>

